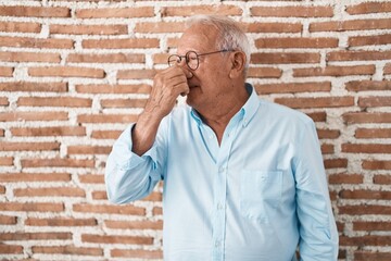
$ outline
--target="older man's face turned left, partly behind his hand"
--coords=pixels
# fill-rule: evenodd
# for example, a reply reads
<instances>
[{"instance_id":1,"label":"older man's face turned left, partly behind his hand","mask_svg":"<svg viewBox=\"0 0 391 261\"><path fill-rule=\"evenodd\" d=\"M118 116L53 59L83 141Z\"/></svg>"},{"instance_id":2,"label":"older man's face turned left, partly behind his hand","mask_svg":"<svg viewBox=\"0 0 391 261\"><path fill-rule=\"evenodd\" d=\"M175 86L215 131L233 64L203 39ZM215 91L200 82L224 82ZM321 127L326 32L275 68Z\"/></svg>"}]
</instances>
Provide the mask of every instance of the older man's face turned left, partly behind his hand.
<instances>
[{"instance_id":1,"label":"older man's face turned left, partly behind his hand","mask_svg":"<svg viewBox=\"0 0 391 261\"><path fill-rule=\"evenodd\" d=\"M185 55L188 51L206 53L218 51L216 48L217 30L212 26L193 25L187 29L179 40L178 54ZM199 57L199 67L190 71L185 62L181 66L190 71L193 77L188 79L190 92L187 103L202 113L213 110L224 102L229 80L229 52L214 53Z\"/></svg>"}]
</instances>

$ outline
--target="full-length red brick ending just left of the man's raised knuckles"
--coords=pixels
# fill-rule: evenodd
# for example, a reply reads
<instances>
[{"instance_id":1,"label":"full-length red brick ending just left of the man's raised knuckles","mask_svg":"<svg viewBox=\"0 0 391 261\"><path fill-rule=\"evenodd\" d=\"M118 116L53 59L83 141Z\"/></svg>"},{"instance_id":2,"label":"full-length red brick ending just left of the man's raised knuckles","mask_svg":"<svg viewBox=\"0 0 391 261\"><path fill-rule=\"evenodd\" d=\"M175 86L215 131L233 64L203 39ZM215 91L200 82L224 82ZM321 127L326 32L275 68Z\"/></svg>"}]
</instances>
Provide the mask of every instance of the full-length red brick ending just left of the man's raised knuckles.
<instances>
[{"instance_id":1,"label":"full-length red brick ending just left of the man's raised knuckles","mask_svg":"<svg viewBox=\"0 0 391 261\"><path fill-rule=\"evenodd\" d=\"M76 85L80 94L149 94L151 86L140 85Z\"/></svg>"}]
</instances>

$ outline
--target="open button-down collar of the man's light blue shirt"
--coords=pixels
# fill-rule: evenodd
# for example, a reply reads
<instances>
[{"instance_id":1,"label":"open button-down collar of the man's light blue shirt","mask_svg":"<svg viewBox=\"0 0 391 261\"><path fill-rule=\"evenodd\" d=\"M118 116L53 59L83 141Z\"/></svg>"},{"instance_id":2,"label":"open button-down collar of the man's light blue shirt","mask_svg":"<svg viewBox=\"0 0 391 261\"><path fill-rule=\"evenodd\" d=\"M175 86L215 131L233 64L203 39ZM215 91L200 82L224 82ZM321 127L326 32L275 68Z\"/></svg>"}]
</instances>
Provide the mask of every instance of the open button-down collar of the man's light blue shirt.
<instances>
[{"instance_id":1,"label":"open button-down collar of the man's light blue shirt","mask_svg":"<svg viewBox=\"0 0 391 261\"><path fill-rule=\"evenodd\" d=\"M245 89L249 92L250 97L247 100L247 102L244 103L244 105L238 112L238 114L242 119L243 127L247 127L247 125L249 125L250 121L253 119L253 116L255 115L256 110L260 107L260 100L257 98L257 94L256 94L254 87L251 84L245 84ZM197 124L201 125L202 120L200 117L200 114L192 108L191 108L190 113L191 113L191 116L195 120Z\"/></svg>"}]
</instances>

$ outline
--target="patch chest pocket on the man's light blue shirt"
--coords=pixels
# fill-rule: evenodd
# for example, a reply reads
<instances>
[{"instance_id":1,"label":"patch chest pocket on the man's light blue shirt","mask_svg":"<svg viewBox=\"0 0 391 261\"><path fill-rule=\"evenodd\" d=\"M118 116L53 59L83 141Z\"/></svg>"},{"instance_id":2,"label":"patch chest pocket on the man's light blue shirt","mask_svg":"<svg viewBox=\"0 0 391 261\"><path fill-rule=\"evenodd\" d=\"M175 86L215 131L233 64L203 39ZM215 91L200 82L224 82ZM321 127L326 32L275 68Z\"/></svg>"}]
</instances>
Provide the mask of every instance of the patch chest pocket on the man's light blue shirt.
<instances>
[{"instance_id":1,"label":"patch chest pocket on the man's light blue shirt","mask_svg":"<svg viewBox=\"0 0 391 261\"><path fill-rule=\"evenodd\" d=\"M281 203L282 171L242 171L240 210L260 223L268 223Z\"/></svg>"}]
</instances>

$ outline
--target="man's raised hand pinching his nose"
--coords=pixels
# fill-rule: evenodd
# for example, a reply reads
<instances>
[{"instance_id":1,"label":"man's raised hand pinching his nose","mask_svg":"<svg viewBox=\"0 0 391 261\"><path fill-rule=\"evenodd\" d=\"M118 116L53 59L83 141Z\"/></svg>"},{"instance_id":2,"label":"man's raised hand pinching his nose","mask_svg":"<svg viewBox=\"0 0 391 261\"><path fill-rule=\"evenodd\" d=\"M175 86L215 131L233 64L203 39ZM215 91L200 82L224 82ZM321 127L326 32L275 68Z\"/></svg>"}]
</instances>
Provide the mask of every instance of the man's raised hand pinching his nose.
<instances>
[{"instance_id":1,"label":"man's raised hand pinching his nose","mask_svg":"<svg viewBox=\"0 0 391 261\"><path fill-rule=\"evenodd\" d=\"M157 73L144 112L163 119L173 110L179 95L189 94L188 79L192 76L190 71L180 66L172 66Z\"/></svg>"}]
</instances>

